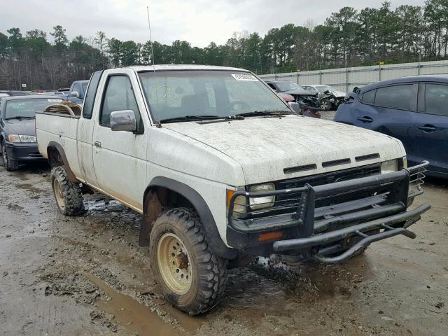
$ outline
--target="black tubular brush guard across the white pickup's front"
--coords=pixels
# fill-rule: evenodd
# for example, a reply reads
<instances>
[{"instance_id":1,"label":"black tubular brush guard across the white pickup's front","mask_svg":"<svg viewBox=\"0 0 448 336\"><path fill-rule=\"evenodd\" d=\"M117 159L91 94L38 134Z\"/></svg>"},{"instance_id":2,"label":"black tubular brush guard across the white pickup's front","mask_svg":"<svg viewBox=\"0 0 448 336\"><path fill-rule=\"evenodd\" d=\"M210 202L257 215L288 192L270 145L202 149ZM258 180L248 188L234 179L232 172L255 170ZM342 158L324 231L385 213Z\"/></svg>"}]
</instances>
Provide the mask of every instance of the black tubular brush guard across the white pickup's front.
<instances>
[{"instance_id":1,"label":"black tubular brush guard across the white pickup's front","mask_svg":"<svg viewBox=\"0 0 448 336\"><path fill-rule=\"evenodd\" d=\"M430 205L406 210L414 197L423 193L421 185L426 166L428 162L424 161L398 172L322 186L305 185L265 193L237 191L229 204L229 230L246 237L284 230L284 240L269 242L274 251L284 254L306 251L304 254L327 263L342 262L374 241L396 235L414 239L416 235L407 228L419 221ZM267 202L272 207L251 210L251 199L272 196L275 202ZM235 211L235 205L246 207L246 211ZM228 234L229 237L232 246L235 234ZM289 237L293 239L287 239ZM353 241L353 238L358 241L344 248L341 242L346 239ZM247 240L251 241L251 246L254 241L258 245L266 244L256 239ZM244 249L251 246L239 244L234 247Z\"/></svg>"}]
</instances>

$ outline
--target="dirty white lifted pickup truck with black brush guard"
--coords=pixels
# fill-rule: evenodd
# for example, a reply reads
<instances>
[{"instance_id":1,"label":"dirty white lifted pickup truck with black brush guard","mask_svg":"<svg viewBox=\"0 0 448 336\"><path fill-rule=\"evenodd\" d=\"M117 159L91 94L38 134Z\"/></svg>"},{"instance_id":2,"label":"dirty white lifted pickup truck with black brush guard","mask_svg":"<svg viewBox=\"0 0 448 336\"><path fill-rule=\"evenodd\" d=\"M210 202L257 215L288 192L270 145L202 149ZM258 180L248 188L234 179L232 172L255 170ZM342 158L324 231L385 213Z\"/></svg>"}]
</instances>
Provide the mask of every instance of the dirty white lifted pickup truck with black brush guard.
<instances>
[{"instance_id":1,"label":"dirty white lifted pickup truck with black brush guard","mask_svg":"<svg viewBox=\"0 0 448 336\"><path fill-rule=\"evenodd\" d=\"M407 209L427 162L407 167L400 141L297 116L243 69L99 71L83 111L50 106L36 134L62 214L83 214L92 190L143 214L139 244L189 314L218 303L247 255L342 262L414 238L409 225L430 208Z\"/></svg>"}]
</instances>

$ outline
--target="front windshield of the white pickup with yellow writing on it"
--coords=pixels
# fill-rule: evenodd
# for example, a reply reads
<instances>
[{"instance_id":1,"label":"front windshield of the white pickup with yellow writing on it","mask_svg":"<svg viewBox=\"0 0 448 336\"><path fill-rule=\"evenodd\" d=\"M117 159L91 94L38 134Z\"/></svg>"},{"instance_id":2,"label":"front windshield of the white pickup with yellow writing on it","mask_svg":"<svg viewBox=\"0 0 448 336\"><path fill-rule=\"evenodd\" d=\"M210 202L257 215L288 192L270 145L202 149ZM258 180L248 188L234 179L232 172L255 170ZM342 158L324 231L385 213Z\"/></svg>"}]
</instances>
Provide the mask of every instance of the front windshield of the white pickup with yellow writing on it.
<instances>
[{"instance_id":1,"label":"front windshield of the white pickup with yellow writing on it","mask_svg":"<svg viewBox=\"0 0 448 336\"><path fill-rule=\"evenodd\" d=\"M157 122L226 118L255 112L291 113L269 87L248 72L145 71L139 76Z\"/></svg>"}]
</instances>

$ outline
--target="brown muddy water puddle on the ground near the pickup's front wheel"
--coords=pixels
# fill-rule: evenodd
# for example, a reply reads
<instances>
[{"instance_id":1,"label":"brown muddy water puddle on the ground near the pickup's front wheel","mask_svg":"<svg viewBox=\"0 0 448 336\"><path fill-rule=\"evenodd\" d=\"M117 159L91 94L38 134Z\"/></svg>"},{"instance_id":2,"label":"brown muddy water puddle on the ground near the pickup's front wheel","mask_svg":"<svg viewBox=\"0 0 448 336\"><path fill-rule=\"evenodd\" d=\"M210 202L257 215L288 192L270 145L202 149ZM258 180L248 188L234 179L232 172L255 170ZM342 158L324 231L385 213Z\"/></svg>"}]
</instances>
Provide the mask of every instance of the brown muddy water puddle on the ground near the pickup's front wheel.
<instances>
[{"instance_id":1,"label":"brown muddy water puddle on the ground near the pickup's front wheel","mask_svg":"<svg viewBox=\"0 0 448 336\"><path fill-rule=\"evenodd\" d=\"M140 304L132 297L118 293L104 281L92 274L83 273L99 289L103 290L111 300L100 299L97 303L106 313L113 314L123 328L138 335L176 336L179 332L172 325L165 323L155 311Z\"/></svg>"}]
</instances>

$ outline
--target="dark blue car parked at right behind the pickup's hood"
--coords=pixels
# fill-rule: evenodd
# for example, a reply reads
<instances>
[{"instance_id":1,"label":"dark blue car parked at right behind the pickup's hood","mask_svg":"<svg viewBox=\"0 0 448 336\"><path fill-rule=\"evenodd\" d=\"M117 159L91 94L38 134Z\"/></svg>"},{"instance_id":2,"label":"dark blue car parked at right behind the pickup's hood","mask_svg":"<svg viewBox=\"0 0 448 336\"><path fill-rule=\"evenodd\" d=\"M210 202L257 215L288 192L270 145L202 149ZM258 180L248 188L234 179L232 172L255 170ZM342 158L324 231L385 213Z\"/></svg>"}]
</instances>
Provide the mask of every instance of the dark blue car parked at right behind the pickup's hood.
<instances>
[{"instance_id":1,"label":"dark blue car parked at right behind the pickup's hood","mask_svg":"<svg viewBox=\"0 0 448 336\"><path fill-rule=\"evenodd\" d=\"M428 160L428 175L448 178L448 75L412 76L355 88L334 120L400 139L409 166Z\"/></svg>"}]
</instances>

